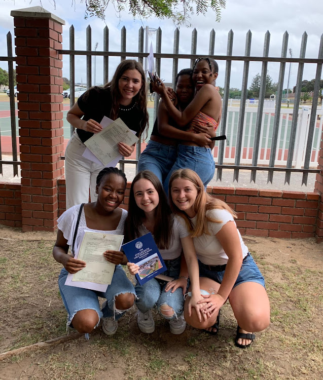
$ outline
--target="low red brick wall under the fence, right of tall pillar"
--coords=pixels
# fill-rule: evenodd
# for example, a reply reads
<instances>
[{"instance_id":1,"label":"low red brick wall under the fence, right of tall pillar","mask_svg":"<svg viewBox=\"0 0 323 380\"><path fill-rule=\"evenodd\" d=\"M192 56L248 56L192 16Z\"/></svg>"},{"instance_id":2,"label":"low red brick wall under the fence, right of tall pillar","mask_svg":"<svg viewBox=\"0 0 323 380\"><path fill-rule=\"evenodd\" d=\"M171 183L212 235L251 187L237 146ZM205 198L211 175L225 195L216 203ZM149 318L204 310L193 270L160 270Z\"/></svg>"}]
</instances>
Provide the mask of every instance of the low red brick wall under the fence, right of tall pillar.
<instances>
[{"instance_id":1,"label":"low red brick wall under the fence, right of tall pillar","mask_svg":"<svg viewBox=\"0 0 323 380\"><path fill-rule=\"evenodd\" d=\"M61 215L65 211L65 180L59 179L58 184L58 205ZM122 205L126 210L130 185L131 182L128 182ZM236 223L241 235L274 238L315 236L319 204L317 193L211 186L208 186L207 191L227 202L237 213Z\"/></svg>"}]
</instances>

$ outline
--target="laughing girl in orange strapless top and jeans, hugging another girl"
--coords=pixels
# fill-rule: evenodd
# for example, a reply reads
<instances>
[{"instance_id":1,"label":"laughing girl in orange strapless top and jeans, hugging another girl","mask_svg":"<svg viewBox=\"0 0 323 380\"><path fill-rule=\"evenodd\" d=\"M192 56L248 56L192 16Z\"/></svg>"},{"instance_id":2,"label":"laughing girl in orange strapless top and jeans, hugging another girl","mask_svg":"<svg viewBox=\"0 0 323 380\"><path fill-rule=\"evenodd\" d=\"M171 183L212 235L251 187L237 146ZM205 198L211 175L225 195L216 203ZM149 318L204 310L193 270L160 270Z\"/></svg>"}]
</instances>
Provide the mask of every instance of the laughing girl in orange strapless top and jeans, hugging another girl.
<instances>
[{"instance_id":1,"label":"laughing girl in orange strapless top and jeans, hugging another girl","mask_svg":"<svg viewBox=\"0 0 323 380\"><path fill-rule=\"evenodd\" d=\"M199 58L193 67L192 80L195 85L196 95L192 102L182 112L178 110L167 96L165 85L156 78L153 89L160 94L169 116L179 126L187 126L187 131L199 132L199 127L211 125L208 134L210 137L216 135L216 130L220 123L222 100L219 91L214 87L218 77L218 64L211 58ZM204 129L203 129L204 131ZM170 131L160 130L162 134ZM167 178L164 181L164 188L168 187L171 173L177 169L189 168L194 170L204 186L213 178L215 164L211 149L214 143L205 146L198 146L192 141L181 141L178 145L177 159Z\"/></svg>"}]
</instances>

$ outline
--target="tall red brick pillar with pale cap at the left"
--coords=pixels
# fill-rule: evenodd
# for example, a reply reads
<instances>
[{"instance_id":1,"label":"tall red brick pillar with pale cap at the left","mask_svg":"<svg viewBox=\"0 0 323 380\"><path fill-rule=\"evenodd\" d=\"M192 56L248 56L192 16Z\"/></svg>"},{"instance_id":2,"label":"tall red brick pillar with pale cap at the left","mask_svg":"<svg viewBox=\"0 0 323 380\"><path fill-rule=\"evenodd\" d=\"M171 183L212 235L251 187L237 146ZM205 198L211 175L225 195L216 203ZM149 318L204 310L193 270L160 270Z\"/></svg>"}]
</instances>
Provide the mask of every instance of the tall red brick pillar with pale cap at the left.
<instances>
[{"instance_id":1,"label":"tall red brick pillar with pale cap at the left","mask_svg":"<svg viewBox=\"0 0 323 380\"><path fill-rule=\"evenodd\" d=\"M62 25L41 7L11 12L15 25L22 231L54 231L64 174Z\"/></svg>"}]
</instances>

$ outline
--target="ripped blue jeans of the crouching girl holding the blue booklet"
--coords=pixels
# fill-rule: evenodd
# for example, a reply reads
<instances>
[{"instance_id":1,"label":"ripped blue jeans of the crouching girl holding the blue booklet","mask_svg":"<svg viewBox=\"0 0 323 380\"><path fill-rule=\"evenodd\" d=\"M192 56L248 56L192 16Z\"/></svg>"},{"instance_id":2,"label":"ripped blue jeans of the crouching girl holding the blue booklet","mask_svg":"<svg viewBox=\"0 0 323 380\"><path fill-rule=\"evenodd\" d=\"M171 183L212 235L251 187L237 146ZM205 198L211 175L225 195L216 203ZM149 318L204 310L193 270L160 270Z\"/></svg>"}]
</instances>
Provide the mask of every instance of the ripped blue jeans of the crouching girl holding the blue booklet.
<instances>
[{"instance_id":1,"label":"ripped blue jeans of the crouching girl holding the blue booklet","mask_svg":"<svg viewBox=\"0 0 323 380\"><path fill-rule=\"evenodd\" d=\"M164 260L167 271L162 273L165 276L175 279L180 275L181 256L173 260ZM159 312L162 305L168 305L174 310L174 315L166 317L168 320L177 319L183 313L184 295L183 289L177 288L173 293L171 290L165 292L166 284L164 281L156 280L155 278L147 281L143 285L136 284L135 290L137 295L136 306L141 313L146 313L157 306Z\"/></svg>"}]
</instances>

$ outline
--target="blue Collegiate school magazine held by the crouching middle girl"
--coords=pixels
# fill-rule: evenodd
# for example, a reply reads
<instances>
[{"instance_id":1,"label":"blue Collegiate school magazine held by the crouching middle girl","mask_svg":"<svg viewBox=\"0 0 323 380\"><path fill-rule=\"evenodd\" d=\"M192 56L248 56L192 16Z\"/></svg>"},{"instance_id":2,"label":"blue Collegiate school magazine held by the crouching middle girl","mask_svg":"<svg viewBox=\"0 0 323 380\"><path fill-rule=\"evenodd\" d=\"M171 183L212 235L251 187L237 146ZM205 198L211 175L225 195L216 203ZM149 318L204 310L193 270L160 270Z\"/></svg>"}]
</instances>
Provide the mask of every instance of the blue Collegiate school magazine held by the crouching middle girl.
<instances>
[{"instance_id":1,"label":"blue Collegiate school magazine held by the crouching middle girl","mask_svg":"<svg viewBox=\"0 0 323 380\"><path fill-rule=\"evenodd\" d=\"M139 265L135 276L140 285L167 269L151 233L123 244L121 248L129 262Z\"/></svg>"}]
</instances>

